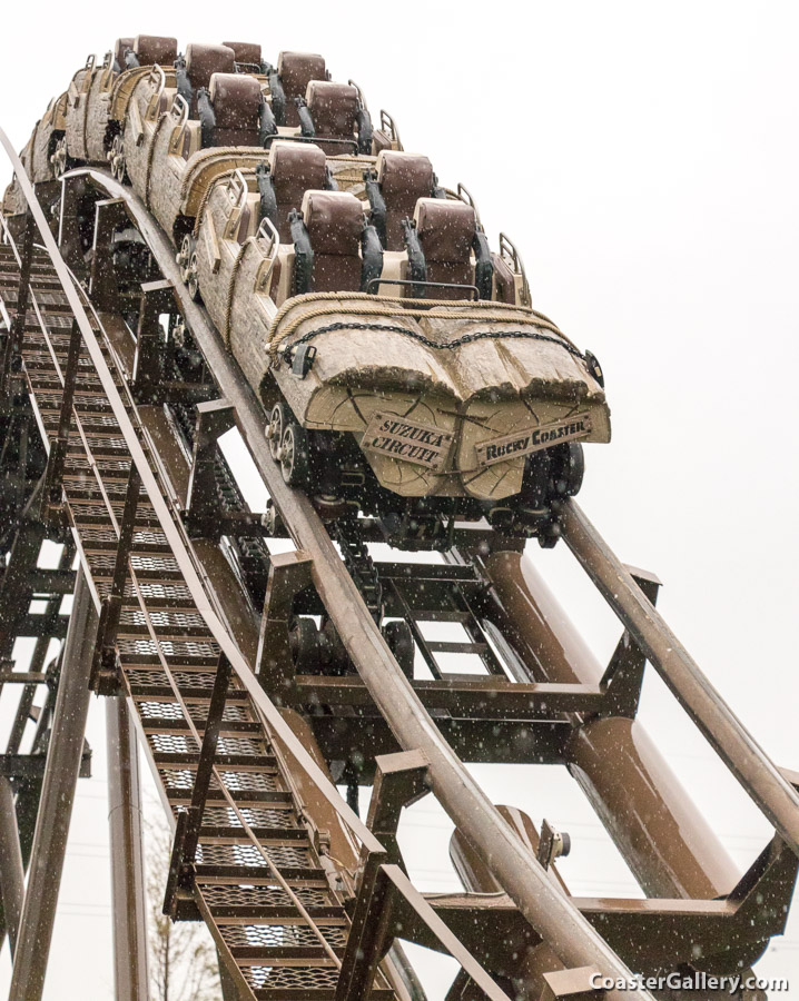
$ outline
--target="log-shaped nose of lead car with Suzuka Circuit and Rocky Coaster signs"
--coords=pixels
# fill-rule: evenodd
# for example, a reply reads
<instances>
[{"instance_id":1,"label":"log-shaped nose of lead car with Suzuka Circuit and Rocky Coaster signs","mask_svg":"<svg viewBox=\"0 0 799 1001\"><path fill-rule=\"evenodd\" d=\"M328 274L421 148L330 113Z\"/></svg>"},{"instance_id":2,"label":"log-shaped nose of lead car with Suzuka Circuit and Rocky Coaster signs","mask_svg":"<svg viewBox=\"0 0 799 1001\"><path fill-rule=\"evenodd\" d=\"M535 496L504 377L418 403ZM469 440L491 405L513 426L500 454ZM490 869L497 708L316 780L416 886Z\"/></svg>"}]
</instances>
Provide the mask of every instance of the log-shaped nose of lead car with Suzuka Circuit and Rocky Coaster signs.
<instances>
[{"instance_id":1,"label":"log-shaped nose of lead car with Suzuka Circuit and Rocky Coaster signs","mask_svg":"<svg viewBox=\"0 0 799 1001\"><path fill-rule=\"evenodd\" d=\"M279 310L264 354L274 454L303 446L297 428L352 436L402 497L506 502L536 456L610 440L595 358L525 307L305 295Z\"/></svg>"}]
</instances>

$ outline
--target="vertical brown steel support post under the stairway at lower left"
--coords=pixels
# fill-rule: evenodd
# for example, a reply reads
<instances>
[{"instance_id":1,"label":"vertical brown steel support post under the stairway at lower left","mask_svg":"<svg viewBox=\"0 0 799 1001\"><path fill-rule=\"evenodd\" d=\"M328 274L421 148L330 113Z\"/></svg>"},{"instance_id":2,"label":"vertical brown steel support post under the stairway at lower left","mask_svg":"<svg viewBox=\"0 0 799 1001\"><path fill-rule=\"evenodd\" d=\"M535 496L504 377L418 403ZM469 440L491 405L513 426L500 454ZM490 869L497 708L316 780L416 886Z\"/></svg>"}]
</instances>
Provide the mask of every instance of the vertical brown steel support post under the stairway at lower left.
<instances>
[{"instance_id":1,"label":"vertical brown steel support post under the stairway at lower left","mask_svg":"<svg viewBox=\"0 0 799 1001\"><path fill-rule=\"evenodd\" d=\"M116 1001L147 1001L147 904L136 731L125 696L106 700Z\"/></svg>"}]
</instances>

